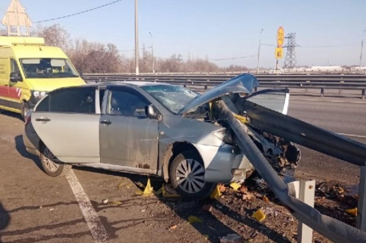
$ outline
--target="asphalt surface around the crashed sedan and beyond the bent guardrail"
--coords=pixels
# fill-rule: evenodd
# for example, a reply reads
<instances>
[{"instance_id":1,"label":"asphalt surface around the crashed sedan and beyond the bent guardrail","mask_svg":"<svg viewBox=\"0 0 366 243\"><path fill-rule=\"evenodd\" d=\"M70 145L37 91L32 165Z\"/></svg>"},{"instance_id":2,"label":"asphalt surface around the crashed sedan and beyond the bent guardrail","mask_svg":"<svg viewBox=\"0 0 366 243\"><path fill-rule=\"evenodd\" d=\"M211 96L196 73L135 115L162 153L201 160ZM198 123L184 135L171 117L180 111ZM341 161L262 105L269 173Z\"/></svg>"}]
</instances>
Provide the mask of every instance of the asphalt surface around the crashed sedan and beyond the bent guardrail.
<instances>
[{"instance_id":1,"label":"asphalt surface around the crashed sedan and beyond the bent guardrail","mask_svg":"<svg viewBox=\"0 0 366 243\"><path fill-rule=\"evenodd\" d=\"M366 103L292 100L289 115L335 132L366 135L365 108ZM22 142L24 124L19 116L0 114L0 124L2 243L104 242L98 241L102 239L98 237L100 229L94 229L97 236L91 233L90 228L93 227L90 227L85 216L93 216L91 212L85 212L88 201L107 233L105 242L108 243L207 242L205 235L209 235L208 242L219 242L219 237L228 233L239 233L246 239L254 239L255 243L296 242L292 233L281 235L277 233L281 227L270 226L270 222L277 222L275 218L269 220L268 217L264 224L259 224L251 221L250 217L243 220L240 216L243 213L230 216L223 211L229 203L202 214L198 213L199 206L196 204L157 197L136 197L135 190L139 189L139 183L146 183L145 176L76 167L73 171L77 183L82 186L82 193L65 177L47 176L41 169L39 159L25 151ZM363 138L356 139L366 142ZM318 181L338 179L350 184L358 181L358 168L344 161L305 148L302 148L302 158L298 169L302 177ZM117 188L118 184L120 188ZM85 194L86 198L80 199L83 197L81 194ZM106 198L121 204L102 203ZM187 217L191 214L203 218L204 223L187 224ZM171 230L172 225L176 225L176 229ZM296 225L292 226L295 229ZM268 232L277 235L273 237ZM279 240L282 236L285 238Z\"/></svg>"}]
</instances>

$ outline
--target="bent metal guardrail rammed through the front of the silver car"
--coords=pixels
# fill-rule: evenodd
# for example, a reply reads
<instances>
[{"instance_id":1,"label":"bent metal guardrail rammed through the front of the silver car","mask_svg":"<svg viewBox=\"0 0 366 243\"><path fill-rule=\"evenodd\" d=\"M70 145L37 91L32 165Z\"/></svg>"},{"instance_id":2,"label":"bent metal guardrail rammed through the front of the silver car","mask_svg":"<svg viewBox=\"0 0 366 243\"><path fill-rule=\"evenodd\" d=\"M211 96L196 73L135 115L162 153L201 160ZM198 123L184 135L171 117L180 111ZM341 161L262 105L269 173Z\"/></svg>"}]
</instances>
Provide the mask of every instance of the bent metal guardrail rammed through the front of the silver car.
<instances>
[{"instance_id":1,"label":"bent metal guardrail rammed through the front of the silver car","mask_svg":"<svg viewBox=\"0 0 366 243\"><path fill-rule=\"evenodd\" d=\"M292 197L294 192L267 162L247 134L247 125L239 122L234 113L243 115L246 112L250 123L258 129L359 166L366 164L366 145L246 101L237 94L221 97L216 105L221 117L226 120L228 127L235 134L234 138L240 150L294 217L333 242L366 242L366 232L323 215Z\"/></svg>"}]
</instances>

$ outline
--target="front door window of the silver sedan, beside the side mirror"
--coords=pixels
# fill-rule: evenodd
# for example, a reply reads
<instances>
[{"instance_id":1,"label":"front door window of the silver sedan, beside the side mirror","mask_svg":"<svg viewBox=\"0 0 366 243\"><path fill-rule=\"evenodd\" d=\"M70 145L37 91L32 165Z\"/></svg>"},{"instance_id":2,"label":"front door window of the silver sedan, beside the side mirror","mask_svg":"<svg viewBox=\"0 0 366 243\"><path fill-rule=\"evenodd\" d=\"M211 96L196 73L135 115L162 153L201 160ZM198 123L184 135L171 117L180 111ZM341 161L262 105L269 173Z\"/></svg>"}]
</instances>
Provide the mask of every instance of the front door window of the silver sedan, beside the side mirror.
<instances>
[{"instance_id":1,"label":"front door window of the silver sedan, beside the side mirror","mask_svg":"<svg viewBox=\"0 0 366 243\"><path fill-rule=\"evenodd\" d=\"M112 90L109 98L108 114L146 117L145 106L149 105L142 97L122 90Z\"/></svg>"}]
</instances>

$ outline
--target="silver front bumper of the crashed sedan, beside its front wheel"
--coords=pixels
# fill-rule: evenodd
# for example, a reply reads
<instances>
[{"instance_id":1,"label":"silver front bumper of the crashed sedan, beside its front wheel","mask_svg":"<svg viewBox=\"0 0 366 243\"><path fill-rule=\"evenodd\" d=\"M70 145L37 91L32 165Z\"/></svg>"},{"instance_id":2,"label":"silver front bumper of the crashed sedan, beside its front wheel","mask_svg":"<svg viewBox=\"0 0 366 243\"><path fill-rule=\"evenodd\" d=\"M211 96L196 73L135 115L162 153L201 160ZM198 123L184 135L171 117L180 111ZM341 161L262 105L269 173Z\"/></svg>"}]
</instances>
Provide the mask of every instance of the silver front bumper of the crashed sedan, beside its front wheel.
<instances>
[{"instance_id":1,"label":"silver front bumper of the crashed sedan, beside its front wheel","mask_svg":"<svg viewBox=\"0 0 366 243\"><path fill-rule=\"evenodd\" d=\"M205 182L228 183L246 179L254 167L237 146L194 145L205 164Z\"/></svg>"}]
</instances>

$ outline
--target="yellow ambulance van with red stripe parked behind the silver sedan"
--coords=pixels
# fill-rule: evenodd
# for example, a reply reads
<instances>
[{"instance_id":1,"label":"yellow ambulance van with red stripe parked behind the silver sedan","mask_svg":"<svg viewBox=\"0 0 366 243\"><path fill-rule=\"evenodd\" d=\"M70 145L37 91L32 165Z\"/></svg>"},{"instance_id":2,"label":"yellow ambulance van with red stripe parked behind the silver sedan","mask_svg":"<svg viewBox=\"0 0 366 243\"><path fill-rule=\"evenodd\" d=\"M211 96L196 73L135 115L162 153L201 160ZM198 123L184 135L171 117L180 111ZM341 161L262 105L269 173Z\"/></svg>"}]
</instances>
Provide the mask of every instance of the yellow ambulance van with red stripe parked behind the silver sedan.
<instances>
[{"instance_id":1,"label":"yellow ambulance van with red stripe parked behind the silver sedan","mask_svg":"<svg viewBox=\"0 0 366 243\"><path fill-rule=\"evenodd\" d=\"M0 36L0 109L24 117L48 91L83 84L65 53L43 38Z\"/></svg>"}]
</instances>

